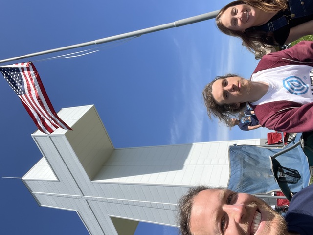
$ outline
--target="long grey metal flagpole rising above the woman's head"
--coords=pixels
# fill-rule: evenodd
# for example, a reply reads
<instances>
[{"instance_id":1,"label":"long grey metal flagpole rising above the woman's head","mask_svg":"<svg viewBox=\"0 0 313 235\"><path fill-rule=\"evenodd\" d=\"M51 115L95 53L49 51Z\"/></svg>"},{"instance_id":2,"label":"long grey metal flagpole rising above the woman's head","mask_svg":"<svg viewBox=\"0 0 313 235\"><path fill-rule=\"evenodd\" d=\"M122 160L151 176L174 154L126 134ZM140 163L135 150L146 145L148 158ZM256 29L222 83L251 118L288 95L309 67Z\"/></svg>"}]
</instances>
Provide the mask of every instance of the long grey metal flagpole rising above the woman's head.
<instances>
[{"instance_id":1,"label":"long grey metal flagpole rising above the woman's head","mask_svg":"<svg viewBox=\"0 0 313 235\"><path fill-rule=\"evenodd\" d=\"M178 20L178 21L175 21L173 23L161 24L158 26L154 26L154 27L150 27L150 28L144 28L141 30L137 30L137 31L129 32L129 33L123 33L123 34L119 34L119 35L115 35L115 36L111 36L111 37L107 37L107 38L102 38L102 39L90 41L87 43L80 43L80 44L75 44L75 45L71 45L71 46L67 46L67 47L59 47L59 48L55 48L55 49L44 50L44 51L31 53L31 54L27 54L27 55L22 55L22 56L18 56L18 57L12 57L12 58L8 58L8 59L0 60L0 63L12 61L12 60L29 58L29 57L38 56L38 55L45 55L45 54L49 54L49 53L54 53L54 52L63 51L63 50L69 50L69 49L78 48L78 47L86 47L86 46L91 46L91 45L108 43L108 42L112 42L112 41L116 41L116 40L120 40L120 39L125 39L125 38L130 38L130 37L135 37L135 36L138 37L142 34L152 33L152 32L156 32L156 31L168 29L168 28L180 27L180 26L187 25L187 24L193 24L193 23L209 20L209 19L215 18L218 13L219 13L219 10L212 11L212 12L201 14L198 16Z\"/></svg>"}]
</instances>

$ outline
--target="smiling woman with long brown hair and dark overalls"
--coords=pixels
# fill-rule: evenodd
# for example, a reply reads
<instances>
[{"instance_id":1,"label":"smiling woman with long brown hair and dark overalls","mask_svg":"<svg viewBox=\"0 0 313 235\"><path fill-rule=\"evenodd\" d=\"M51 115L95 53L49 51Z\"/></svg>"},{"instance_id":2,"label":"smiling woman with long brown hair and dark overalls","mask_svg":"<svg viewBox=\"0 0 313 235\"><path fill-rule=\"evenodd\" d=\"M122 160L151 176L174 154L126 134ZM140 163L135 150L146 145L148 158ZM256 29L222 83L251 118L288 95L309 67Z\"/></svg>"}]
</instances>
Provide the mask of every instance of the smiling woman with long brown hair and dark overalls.
<instances>
[{"instance_id":1,"label":"smiling woman with long brown hair and dark overalls","mask_svg":"<svg viewBox=\"0 0 313 235\"><path fill-rule=\"evenodd\" d=\"M313 0L237 0L221 9L216 24L252 52L259 51L255 42L282 46L313 34Z\"/></svg>"}]
</instances>

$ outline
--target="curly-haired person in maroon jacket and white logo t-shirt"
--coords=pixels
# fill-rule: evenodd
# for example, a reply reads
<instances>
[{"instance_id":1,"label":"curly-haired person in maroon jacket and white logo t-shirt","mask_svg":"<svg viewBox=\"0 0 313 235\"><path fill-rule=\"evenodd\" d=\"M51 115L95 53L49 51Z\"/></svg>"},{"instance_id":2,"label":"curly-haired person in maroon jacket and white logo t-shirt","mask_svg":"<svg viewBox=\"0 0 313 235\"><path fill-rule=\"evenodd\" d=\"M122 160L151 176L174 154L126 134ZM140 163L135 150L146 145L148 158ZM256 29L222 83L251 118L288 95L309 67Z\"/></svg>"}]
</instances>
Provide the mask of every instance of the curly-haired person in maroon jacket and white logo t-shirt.
<instances>
[{"instance_id":1,"label":"curly-haired person in maroon jacket and white logo t-shirt","mask_svg":"<svg viewBox=\"0 0 313 235\"><path fill-rule=\"evenodd\" d=\"M313 42L263 56L250 80L235 74L216 77L202 94L209 117L228 126L249 103L263 127L313 131Z\"/></svg>"}]
</instances>

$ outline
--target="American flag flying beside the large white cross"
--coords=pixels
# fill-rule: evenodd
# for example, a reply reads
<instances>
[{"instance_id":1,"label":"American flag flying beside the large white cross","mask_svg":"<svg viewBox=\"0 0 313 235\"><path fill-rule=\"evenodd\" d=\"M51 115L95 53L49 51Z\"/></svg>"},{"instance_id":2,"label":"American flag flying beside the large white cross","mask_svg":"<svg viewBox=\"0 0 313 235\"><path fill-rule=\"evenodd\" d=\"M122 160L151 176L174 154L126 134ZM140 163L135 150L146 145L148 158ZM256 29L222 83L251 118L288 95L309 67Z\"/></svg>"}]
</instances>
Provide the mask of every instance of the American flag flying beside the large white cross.
<instances>
[{"instance_id":1,"label":"American flag flying beside the large white cross","mask_svg":"<svg viewBox=\"0 0 313 235\"><path fill-rule=\"evenodd\" d=\"M54 111L40 76L31 62L1 66L0 71L20 97L39 130L46 134L52 133L59 127L71 130Z\"/></svg>"}]
</instances>

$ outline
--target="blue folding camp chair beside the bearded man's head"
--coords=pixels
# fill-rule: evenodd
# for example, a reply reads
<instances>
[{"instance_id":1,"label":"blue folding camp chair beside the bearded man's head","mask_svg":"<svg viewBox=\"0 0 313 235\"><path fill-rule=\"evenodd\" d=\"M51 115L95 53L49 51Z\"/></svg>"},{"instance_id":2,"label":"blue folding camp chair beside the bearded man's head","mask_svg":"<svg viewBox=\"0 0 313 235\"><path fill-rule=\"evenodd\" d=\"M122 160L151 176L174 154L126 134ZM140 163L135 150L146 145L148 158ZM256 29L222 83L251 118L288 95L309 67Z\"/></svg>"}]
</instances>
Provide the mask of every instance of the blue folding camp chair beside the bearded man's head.
<instances>
[{"instance_id":1,"label":"blue folding camp chair beside the bearded man's head","mask_svg":"<svg viewBox=\"0 0 313 235\"><path fill-rule=\"evenodd\" d=\"M300 139L301 134L297 134L283 150L253 145L229 146L230 178L227 188L249 194L281 190L290 200L292 193L309 185L311 176Z\"/></svg>"}]
</instances>

